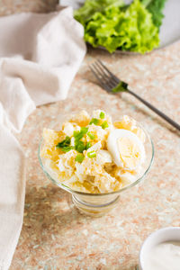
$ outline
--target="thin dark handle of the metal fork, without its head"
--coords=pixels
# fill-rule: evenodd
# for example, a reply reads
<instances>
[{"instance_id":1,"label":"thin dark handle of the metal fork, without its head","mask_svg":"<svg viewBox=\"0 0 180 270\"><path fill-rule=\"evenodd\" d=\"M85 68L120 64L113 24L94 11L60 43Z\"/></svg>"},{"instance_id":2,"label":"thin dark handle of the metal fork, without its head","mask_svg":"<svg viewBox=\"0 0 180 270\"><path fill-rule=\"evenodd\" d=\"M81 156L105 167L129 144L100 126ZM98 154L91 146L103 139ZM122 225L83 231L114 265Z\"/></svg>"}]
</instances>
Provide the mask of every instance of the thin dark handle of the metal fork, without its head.
<instances>
[{"instance_id":1,"label":"thin dark handle of the metal fork, without its head","mask_svg":"<svg viewBox=\"0 0 180 270\"><path fill-rule=\"evenodd\" d=\"M159 110L157 110L157 108L155 108L153 105L151 105L146 100L141 98L138 94L135 94L134 92L130 91L129 89L128 89L127 93L132 94L133 96L135 96L139 101L141 101L141 103L144 103L145 105L147 105L147 107L150 110L152 110L153 112L156 112L160 117L162 117L164 120L166 120L168 123L170 123L173 127L175 127L175 129L180 130L180 125L177 122L170 119L168 116L166 116L165 113L160 112Z\"/></svg>"}]
</instances>

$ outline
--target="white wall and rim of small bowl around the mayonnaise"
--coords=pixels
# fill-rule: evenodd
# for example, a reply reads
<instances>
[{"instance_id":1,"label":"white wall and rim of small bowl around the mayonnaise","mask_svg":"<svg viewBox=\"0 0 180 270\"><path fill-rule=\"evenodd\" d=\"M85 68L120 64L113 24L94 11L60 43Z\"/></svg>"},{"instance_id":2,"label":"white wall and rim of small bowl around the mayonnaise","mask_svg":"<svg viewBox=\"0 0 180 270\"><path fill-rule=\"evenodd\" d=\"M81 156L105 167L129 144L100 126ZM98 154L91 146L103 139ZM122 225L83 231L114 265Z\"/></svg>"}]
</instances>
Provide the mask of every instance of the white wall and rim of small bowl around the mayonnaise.
<instances>
[{"instance_id":1,"label":"white wall and rim of small bowl around the mayonnaise","mask_svg":"<svg viewBox=\"0 0 180 270\"><path fill-rule=\"evenodd\" d=\"M166 241L180 241L180 227L158 229L146 238L139 252L139 270L146 270L144 268L144 260L149 251L158 244Z\"/></svg>"}]
</instances>

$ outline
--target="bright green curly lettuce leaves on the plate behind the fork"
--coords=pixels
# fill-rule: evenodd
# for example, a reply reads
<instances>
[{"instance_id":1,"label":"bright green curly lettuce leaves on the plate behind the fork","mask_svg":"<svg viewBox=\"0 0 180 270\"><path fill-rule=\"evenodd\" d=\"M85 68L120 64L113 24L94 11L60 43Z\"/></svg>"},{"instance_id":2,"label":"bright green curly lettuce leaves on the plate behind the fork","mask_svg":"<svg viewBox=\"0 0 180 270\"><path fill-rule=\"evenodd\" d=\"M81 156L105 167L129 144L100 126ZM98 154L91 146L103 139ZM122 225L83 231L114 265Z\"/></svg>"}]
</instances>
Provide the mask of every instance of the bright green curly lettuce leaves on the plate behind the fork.
<instances>
[{"instance_id":1,"label":"bright green curly lettuce leaves on the plate behind the fork","mask_svg":"<svg viewBox=\"0 0 180 270\"><path fill-rule=\"evenodd\" d=\"M128 6L119 0L86 0L75 18L85 27L85 41L109 52L121 49L145 53L159 45L152 14L139 0Z\"/></svg>"}]
</instances>

